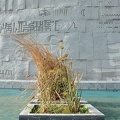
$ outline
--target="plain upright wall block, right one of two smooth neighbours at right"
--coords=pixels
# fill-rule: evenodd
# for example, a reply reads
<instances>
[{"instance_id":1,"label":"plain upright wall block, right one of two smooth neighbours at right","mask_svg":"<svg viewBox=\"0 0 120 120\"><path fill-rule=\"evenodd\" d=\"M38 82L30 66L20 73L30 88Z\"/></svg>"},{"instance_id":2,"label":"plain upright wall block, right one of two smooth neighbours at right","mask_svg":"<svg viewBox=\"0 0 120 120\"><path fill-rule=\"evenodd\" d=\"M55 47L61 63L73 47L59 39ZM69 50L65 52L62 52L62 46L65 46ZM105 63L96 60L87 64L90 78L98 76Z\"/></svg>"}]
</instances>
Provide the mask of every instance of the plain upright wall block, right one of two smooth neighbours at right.
<instances>
[{"instance_id":1,"label":"plain upright wall block, right one of two smooth neighbours at right","mask_svg":"<svg viewBox=\"0 0 120 120\"><path fill-rule=\"evenodd\" d=\"M106 59L107 38L105 33L94 33L94 59Z\"/></svg>"}]
</instances>

